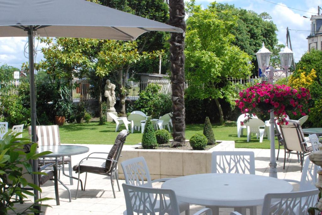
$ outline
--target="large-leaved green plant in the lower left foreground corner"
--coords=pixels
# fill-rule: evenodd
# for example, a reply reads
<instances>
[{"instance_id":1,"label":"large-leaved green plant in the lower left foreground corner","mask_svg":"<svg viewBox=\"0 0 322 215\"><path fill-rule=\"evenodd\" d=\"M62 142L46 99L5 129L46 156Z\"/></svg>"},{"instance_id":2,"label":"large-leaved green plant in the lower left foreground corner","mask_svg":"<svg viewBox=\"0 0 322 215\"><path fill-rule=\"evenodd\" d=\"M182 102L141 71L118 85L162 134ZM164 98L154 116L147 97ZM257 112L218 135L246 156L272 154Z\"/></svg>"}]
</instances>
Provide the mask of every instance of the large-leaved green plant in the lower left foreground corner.
<instances>
[{"instance_id":1,"label":"large-leaved green plant in the lower left foreground corner","mask_svg":"<svg viewBox=\"0 0 322 215\"><path fill-rule=\"evenodd\" d=\"M51 153L49 151L37 153L37 144L30 142L29 139L17 138L19 134L21 133L12 136L8 132L0 140L0 214L3 215L11 214L12 211L18 215L31 214L41 212L34 209L33 206L49 206L40 204L41 201L49 199L43 198L30 204L24 211L14 208L15 203L29 202L28 200L24 200L27 198L27 195L33 196L32 192L21 189L21 186L28 185L41 192L38 185L31 184L24 178L25 173L23 173L22 166L25 167L29 174L33 174L30 162L38 159L42 155ZM24 147L27 145L30 146L29 152L25 152L24 150ZM18 200L15 198L15 195L18 196ZM20 201L19 198L22 200ZM8 209L10 210L8 211Z\"/></svg>"}]
</instances>

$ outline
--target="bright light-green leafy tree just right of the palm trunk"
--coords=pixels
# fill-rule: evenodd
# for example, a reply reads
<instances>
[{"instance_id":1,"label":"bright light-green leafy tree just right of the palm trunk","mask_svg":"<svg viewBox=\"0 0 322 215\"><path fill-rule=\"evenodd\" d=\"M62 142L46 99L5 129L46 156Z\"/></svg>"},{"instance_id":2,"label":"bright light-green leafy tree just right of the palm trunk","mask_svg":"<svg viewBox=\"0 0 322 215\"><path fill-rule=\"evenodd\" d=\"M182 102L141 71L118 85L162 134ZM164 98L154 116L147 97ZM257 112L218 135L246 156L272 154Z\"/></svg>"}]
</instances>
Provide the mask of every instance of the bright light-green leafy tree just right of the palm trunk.
<instances>
[{"instance_id":1,"label":"bright light-green leafy tree just right of the palm trunk","mask_svg":"<svg viewBox=\"0 0 322 215\"><path fill-rule=\"evenodd\" d=\"M214 99L223 124L218 99L229 97L228 77L242 78L250 74L251 65L247 64L250 56L232 45L234 36L230 29L236 25L236 16L226 10L221 12L226 14L222 19L214 8L202 10L193 3L188 5L186 33L187 93L198 99Z\"/></svg>"}]
</instances>

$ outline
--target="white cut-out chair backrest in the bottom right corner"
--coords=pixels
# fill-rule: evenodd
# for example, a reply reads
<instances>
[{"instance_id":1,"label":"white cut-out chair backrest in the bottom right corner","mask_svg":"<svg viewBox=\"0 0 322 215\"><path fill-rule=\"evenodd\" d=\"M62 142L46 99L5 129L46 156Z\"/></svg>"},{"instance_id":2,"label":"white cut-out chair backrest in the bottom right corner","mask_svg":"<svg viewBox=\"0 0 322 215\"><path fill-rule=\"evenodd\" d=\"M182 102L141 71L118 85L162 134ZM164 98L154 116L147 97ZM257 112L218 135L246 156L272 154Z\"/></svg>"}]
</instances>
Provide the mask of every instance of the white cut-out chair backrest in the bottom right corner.
<instances>
[{"instance_id":1,"label":"white cut-out chair backrest in the bottom right corner","mask_svg":"<svg viewBox=\"0 0 322 215\"><path fill-rule=\"evenodd\" d=\"M264 197L262 215L308 215L317 203L319 190L290 193L268 193Z\"/></svg>"}]
</instances>

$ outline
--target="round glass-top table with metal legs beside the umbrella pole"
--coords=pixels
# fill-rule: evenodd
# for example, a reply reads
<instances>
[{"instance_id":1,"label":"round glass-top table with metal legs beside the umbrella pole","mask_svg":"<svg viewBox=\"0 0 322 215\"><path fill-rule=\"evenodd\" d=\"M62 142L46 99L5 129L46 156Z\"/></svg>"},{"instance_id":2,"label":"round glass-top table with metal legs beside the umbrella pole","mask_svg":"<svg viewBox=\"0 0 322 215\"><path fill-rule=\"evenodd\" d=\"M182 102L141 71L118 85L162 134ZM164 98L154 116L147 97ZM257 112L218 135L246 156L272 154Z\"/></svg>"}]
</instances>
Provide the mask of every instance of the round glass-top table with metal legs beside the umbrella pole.
<instances>
[{"instance_id":1,"label":"round glass-top table with metal legs beside the umbrella pole","mask_svg":"<svg viewBox=\"0 0 322 215\"><path fill-rule=\"evenodd\" d=\"M40 156L42 158L55 158L56 166L58 166L57 159L62 157L62 174L72 179L78 180L78 178L73 177L72 175L66 175L64 170L64 156L71 157L72 155L79 155L88 152L90 149L86 146L77 146L77 145L51 145L51 146L38 146L38 152L51 151L51 154ZM70 166L71 168L71 166ZM71 174L71 170L70 170ZM58 178L59 183L61 183L68 191L69 201L71 202L71 191L70 189ZM83 185L81 182L81 190L83 190Z\"/></svg>"}]
</instances>

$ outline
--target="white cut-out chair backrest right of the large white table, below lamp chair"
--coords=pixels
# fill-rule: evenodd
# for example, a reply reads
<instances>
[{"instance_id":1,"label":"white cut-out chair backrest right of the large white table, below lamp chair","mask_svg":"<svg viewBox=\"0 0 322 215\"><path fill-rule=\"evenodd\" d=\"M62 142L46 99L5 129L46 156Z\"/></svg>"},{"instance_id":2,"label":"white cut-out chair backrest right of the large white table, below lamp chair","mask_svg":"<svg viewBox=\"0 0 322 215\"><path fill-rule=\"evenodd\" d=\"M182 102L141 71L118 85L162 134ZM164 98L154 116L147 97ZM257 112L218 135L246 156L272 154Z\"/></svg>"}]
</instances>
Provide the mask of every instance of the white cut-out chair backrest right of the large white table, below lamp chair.
<instances>
[{"instance_id":1,"label":"white cut-out chair backrest right of the large white table, below lamp chair","mask_svg":"<svg viewBox=\"0 0 322 215\"><path fill-rule=\"evenodd\" d=\"M317 165L306 158L300 181L299 191L314 190L317 183Z\"/></svg>"}]
</instances>

